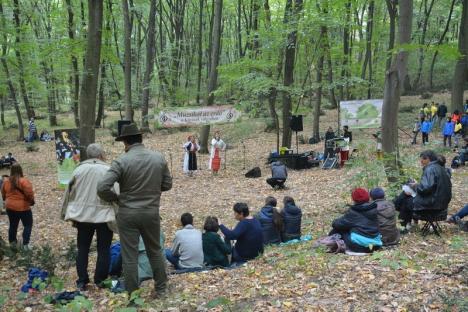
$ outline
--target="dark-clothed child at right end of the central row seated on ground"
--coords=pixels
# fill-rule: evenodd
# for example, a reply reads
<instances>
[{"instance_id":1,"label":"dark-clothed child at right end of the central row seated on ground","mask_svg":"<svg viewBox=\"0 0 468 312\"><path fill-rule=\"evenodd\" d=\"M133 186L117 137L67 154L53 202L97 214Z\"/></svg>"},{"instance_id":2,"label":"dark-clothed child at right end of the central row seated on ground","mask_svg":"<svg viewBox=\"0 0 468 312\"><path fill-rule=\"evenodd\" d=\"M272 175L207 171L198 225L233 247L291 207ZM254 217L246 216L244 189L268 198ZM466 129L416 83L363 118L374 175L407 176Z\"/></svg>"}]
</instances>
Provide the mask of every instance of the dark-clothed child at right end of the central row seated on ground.
<instances>
[{"instance_id":1,"label":"dark-clothed child at right end of the central row seated on ground","mask_svg":"<svg viewBox=\"0 0 468 312\"><path fill-rule=\"evenodd\" d=\"M289 196L283 198L283 209L281 210L283 217L283 233L281 240L288 242L293 239L301 238L301 222L302 210L296 206L294 199Z\"/></svg>"}]
</instances>

